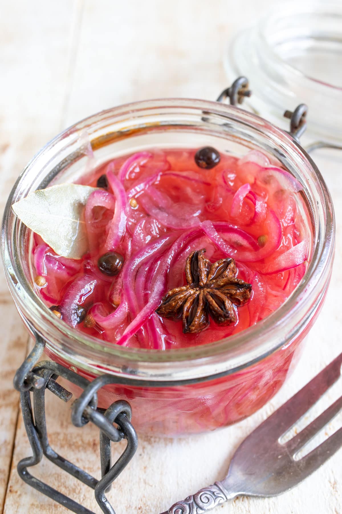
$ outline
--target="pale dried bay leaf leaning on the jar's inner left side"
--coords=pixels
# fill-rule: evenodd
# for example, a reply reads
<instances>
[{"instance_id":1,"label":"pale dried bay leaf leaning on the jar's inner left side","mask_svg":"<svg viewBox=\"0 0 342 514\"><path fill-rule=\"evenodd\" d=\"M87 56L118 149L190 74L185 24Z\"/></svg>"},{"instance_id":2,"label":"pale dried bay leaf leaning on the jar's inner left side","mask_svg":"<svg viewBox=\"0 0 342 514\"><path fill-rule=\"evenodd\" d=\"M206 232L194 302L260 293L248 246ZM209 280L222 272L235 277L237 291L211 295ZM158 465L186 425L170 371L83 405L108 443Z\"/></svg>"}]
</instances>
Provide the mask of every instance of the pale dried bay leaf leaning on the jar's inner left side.
<instances>
[{"instance_id":1,"label":"pale dried bay leaf leaning on the jar's inner left side","mask_svg":"<svg viewBox=\"0 0 342 514\"><path fill-rule=\"evenodd\" d=\"M72 183L38 189L12 209L57 255L81 259L88 250L84 207L96 189Z\"/></svg>"}]
</instances>

